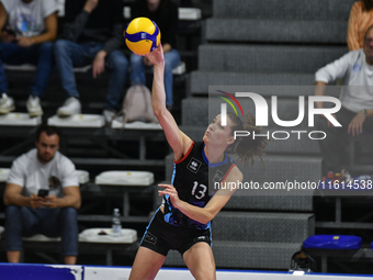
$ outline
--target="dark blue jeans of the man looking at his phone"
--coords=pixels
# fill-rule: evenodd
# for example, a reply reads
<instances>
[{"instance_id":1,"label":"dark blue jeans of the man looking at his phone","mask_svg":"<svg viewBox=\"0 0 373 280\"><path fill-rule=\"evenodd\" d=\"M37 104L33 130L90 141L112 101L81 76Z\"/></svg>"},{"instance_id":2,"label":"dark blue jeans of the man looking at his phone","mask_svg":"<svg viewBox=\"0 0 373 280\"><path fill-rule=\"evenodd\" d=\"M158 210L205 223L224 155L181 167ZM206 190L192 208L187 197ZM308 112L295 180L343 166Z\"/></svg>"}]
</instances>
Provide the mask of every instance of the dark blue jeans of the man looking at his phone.
<instances>
[{"instance_id":1,"label":"dark blue jeans of the man looking at his phone","mask_svg":"<svg viewBox=\"0 0 373 280\"><path fill-rule=\"evenodd\" d=\"M77 210L7 206L7 251L22 250L22 236L30 237L35 234L44 234L48 237L60 236L63 256L78 256Z\"/></svg>"}]
</instances>

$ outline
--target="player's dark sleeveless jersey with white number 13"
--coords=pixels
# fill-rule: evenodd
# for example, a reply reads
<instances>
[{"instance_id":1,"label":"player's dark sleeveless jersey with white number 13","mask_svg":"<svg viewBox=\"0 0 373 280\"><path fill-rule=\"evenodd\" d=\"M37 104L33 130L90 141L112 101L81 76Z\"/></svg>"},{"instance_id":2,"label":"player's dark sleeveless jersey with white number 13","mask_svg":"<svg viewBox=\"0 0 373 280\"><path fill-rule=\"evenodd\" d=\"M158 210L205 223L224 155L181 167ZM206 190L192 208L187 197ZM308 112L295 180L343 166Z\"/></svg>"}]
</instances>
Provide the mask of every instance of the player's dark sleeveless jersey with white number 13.
<instances>
[{"instance_id":1,"label":"player's dark sleeveless jersey with white number 13","mask_svg":"<svg viewBox=\"0 0 373 280\"><path fill-rule=\"evenodd\" d=\"M173 164L171 184L177 189L179 199L192 205L204 208L218 190L219 183L224 181L236 164L225 154L222 163L208 164L204 153L203 142L193 142L187 155ZM173 208L170 197L163 197L165 221L171 225L197 227L205 229L211 226L201 224L184 215Z\"/></svg>"}]
</instances>

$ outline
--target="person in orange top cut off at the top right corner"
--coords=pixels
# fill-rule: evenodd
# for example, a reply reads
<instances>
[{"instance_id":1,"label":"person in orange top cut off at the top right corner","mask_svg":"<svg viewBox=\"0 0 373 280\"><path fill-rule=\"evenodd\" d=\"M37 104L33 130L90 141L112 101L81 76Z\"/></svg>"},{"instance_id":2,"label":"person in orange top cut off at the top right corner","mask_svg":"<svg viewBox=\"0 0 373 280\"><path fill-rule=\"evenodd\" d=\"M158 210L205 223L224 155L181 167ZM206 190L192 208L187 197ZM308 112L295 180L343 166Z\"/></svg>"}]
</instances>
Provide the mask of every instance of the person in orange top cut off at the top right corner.
<instances>
[{"instance_id":1,"label":"person in orange top cut off at the top right corner","mask_svg":"<svg viewBox=\"0 0 373 280\"><path fill-rule=\"evenodd\" d=\"M350 51L363 47L364 35L373 24L373 0L354 2L350 12L347 44Z\"/></svg>"}]
</instances>

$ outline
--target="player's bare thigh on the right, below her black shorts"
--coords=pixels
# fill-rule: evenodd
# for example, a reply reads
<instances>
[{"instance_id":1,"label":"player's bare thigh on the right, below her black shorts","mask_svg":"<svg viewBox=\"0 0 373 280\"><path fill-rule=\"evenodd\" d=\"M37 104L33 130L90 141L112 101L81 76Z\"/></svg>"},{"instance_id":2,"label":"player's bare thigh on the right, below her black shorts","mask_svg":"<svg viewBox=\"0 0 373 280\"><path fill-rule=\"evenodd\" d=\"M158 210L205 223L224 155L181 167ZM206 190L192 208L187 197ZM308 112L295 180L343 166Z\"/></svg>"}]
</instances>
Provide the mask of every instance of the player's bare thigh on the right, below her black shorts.
<instances>
[{"instance_id":1,"label":"player's bare thigh on the right, below her black shorts","mask_svg":"<svg viewBox=\"0 0 373 280\"><path fill-rule=\"evenodd\" d=\"M216 279L214 255L207 243L199 242L194 244L182 257L196 280Z\"/></svg>"}]
</instances>

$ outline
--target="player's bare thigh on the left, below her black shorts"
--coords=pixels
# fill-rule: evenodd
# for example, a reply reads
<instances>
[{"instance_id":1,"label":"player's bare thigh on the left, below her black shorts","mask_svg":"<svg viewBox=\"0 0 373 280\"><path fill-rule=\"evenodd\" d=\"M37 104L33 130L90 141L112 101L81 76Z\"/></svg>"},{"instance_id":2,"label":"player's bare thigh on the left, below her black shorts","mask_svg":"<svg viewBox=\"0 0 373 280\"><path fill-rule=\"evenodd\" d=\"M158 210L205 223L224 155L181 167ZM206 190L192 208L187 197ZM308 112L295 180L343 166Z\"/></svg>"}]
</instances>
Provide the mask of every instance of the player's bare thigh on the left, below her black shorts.
<instances>
[{"instance_id":1,"label":"player's bare thigh on the left, below her black shorts","mask_svg":"<svg viewBox=\"0 0 373 280\"><path fill-rule=\"evenodd\" d=\"M155 279L159 269L163 265L166 256L139 247L134 265L131 270L129 280L151 280Z\"/></svg>"}]
</instances>

